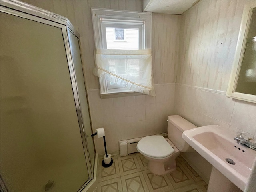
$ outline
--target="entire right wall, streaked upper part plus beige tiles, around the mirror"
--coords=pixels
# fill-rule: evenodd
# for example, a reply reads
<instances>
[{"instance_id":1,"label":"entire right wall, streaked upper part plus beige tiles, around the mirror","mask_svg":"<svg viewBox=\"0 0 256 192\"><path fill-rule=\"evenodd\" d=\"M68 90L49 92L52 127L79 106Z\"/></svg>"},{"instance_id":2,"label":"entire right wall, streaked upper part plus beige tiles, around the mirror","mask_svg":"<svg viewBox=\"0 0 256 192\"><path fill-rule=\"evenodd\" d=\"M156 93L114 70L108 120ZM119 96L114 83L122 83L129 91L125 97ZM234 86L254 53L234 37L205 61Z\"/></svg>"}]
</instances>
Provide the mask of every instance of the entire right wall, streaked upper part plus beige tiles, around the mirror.
<instances>
[{"instance_id":1,"label":"entire right wall, streaked upper part plus beige tiles, around the mirror","mask_svg":"<svg viewBox=\"0 0 256 192\"><path fill-rule=\"evenodd\" d=\"M221 124L255 136L256 104L221 92L228 86L248 2L252 1L200 1L182 14L175 112L197 126Z\"/></svg>"}]
</instances>

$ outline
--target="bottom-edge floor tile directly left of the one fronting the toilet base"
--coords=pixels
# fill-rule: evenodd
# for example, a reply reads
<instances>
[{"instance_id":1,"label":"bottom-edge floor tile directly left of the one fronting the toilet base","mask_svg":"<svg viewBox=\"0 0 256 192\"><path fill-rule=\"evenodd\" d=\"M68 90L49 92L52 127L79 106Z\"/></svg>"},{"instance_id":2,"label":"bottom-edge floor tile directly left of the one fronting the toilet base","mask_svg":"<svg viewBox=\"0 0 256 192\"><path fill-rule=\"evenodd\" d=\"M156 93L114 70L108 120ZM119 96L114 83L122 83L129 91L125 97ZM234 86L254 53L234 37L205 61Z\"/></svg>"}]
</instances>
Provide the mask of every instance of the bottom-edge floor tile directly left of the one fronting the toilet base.
<instances>
[{"instance_id":1,"label":"bottom-edge floor tile directly left of the one fronting the toilet base","mask_svg":"<svg viewBox=\"0 0 256 192\"><path fill-rule=\"evenodd\" d=\"M149 192L142 172L121 177L124 192Z\"/></svg>"}]
</instances>

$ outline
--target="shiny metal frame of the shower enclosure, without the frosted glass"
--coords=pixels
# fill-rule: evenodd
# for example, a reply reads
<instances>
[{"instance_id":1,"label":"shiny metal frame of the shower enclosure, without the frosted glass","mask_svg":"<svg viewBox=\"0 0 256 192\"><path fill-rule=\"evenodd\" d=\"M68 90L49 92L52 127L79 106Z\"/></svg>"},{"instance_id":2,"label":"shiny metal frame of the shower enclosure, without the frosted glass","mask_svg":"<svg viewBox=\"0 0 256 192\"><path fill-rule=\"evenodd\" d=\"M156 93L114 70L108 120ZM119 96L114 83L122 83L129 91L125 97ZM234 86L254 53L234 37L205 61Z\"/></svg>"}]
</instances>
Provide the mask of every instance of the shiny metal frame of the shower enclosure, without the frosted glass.
<instances>
[{"instance_id":1,"label":"shiny metal frame of the shower enclosure, without the frosted glass","mask_svg":"<svg viewBox=\"0 0 256 192\"><path fill-rule=\"evenodd\" d=\"M50 26L58 27L62 30L64 46L66 50L66 57L68 61L68 69L70 73L70 80L72 84L73 96L74 96L74 101L76 105L76 113L78 117L78 123L79 123L79 128L80 128L80 133L81 133L81 138L82 138L82 143L84 148L84 155L86 158L86 165L87 165L88 174L89 174L89 179L78 190L78 192L81 192L83 188L90 182L90 180L92 180L93 172L92 172L92 164L89 158L89 150L88 150L88 144L86 141L86 133L84 130L84 125L82 120L82 112L81 112L80 101L78 97L78 86L76 82L76 74L74 70L73 58L70 50L70 39L68 36L68 32L70 30L78 38L78 40L79 40L80 34L75 30L74 26L72 26L68 18L60 16L58 14L54 14L52 12L46 11L36 6L32 6L30 4L20 2L18 0L1 0L0 12L4 12L7 14L21 17L21 18L26 18L26 19L47 24ZM2 178L1 178L1 181L2 181ZM2 185L2 182L1 182L1 185Z\"/></svg>"}]
</instances>

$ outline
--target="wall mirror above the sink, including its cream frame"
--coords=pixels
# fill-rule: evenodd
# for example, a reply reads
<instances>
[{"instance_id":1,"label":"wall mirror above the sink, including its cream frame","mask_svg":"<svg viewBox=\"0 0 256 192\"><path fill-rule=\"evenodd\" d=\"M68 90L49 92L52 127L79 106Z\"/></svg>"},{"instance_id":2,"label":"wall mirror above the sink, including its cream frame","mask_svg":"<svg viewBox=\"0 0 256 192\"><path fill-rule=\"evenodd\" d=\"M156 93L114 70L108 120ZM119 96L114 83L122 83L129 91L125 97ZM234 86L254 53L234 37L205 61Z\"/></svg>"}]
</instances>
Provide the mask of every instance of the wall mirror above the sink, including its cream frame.
<instances>
[{"instance_id":1,"label":"wall mirror above the sink, including its cream frame","mask_svg":"<svg viewBox=\"0 0 256 192\"><path fill-rule=\"evenodd\" d=\"M256 1L244 7L226 96L256 103Z\"/></svg>"}]
</instances>

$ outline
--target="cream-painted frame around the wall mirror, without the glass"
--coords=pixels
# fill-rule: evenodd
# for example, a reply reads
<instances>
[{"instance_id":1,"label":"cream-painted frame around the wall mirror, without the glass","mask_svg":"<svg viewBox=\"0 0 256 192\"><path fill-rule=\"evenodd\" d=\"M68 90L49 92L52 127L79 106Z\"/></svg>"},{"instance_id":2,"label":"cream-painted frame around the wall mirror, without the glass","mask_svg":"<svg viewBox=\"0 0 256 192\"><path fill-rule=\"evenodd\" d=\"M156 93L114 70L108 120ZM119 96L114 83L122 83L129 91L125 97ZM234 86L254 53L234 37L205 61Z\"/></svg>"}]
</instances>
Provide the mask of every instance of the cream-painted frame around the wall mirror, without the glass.
<instances>
[{"instance_id":1,"label":"cream-painted frame around the wall mirror, without the glass","mask_svg":"<svg viewBox=\"0 0 256 192\"><path fill-rule=\"evenodd\" d=\"M234 56L234 62L232 66L232 71L230 74L230 80L228 83L227 97L244 100L248 102L256 103L256 95L250 95L245 93L236 92L236 85L238 82L238 77L240 74L240 69L242 66L242 61L244 58L244 52L246 48L246 39L250 26L250 20L252 17L252 10L256 7L256 1L245 4L244 11L242 14L242 21L240 25L240 31L238 36L238 42L236 45L236 52Z\"/></svg>"}]
</instances>

